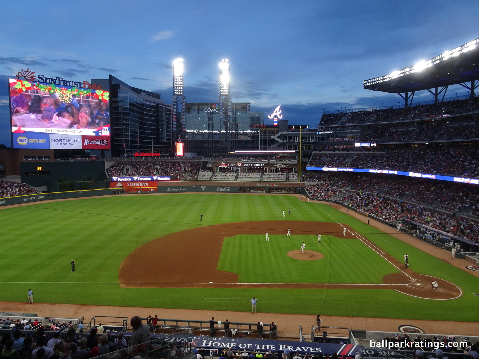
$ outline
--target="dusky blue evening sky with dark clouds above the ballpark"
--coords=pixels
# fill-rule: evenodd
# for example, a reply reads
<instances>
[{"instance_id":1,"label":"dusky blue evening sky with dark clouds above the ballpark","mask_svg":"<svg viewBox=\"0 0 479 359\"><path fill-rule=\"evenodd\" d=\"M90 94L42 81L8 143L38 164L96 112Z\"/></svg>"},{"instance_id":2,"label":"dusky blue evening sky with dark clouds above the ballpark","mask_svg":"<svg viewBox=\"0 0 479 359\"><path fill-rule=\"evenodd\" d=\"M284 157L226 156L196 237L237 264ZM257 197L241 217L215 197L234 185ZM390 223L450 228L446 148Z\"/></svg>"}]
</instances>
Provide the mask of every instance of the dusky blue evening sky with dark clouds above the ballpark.
<instances>
[{"instance_id":1,"label":"dusky blue evening sky with dark clouds above the ballpark","mask_svg":"<svg viewBox=\"0 0 479 359\"><path fill-rule=\"evenodd\" d=\"M401 101L398 95L364 90L363 80L479 37L475 5L461 0L2 2L0 74L27 67L37 75L72 80L112 74L160 91L171 103L171 62L182 56L187 101L217 101L218 62L228 57L233 101L251 101L253 111L268 113L281 104L283 119L314 126L323 109ZM466 91L450 88L446 97ZM431 99L422 91L414 101Z\"/></svg>"}]
</instances>

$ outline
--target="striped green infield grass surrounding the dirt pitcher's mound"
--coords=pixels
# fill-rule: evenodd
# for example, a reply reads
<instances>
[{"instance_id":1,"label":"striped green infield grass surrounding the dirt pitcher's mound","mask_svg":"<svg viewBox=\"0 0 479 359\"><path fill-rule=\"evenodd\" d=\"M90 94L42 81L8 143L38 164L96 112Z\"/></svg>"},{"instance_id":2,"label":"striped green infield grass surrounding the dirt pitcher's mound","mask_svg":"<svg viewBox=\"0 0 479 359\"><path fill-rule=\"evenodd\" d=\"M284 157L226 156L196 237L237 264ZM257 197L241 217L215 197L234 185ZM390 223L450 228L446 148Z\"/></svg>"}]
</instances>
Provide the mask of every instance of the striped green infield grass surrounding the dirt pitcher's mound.
<instances>
[{"instance_id":1,"label":"striped green infield grass surrounding the dirt pitcher's mound","mask_svg":"<svg viewBox=\"0 0 479 359\"><path fill-rule=\"evenodd\" d=\"M303 241L306 249L324 257L288 257L289 251L301 251ZM359 239L323 235L319 244L315 235L286 237L286 233L271 235L269 242L258 235L225 238L217 269L237 273L246 283L382 283L386 274L399 272Z\"/></svg>"}]
</instances>

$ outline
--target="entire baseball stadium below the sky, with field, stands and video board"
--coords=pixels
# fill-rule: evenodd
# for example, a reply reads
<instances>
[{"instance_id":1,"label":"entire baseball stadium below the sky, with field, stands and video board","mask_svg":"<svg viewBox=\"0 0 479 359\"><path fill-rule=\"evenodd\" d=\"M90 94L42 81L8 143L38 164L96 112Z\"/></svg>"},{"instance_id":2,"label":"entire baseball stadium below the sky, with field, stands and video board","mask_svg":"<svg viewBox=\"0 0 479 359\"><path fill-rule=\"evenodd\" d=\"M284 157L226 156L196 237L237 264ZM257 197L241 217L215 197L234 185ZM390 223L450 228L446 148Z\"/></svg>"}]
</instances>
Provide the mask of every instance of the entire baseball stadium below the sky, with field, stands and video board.
<instances>
[{"instance_id":1,"label":"entire baseball stadium below the sky, with field, stands and video board","mask_svg":"<svg viewBox=\"0 0 479 359\"><path fill-rule=\"evenodd\" d=\"M29 359L477 359L478 56L476 39L365 80L404 103L313 129L280 106L264 124L229 83L186 103L180 67L171 105L111 75L11 75L0 344L34 342ZM445 97L455 84L470 94ZM424 90L434 100L412 102ZM47 117L50 133L34 127ZM154 121L169 126L155 140Z\"/></svg>"}]
</instances>

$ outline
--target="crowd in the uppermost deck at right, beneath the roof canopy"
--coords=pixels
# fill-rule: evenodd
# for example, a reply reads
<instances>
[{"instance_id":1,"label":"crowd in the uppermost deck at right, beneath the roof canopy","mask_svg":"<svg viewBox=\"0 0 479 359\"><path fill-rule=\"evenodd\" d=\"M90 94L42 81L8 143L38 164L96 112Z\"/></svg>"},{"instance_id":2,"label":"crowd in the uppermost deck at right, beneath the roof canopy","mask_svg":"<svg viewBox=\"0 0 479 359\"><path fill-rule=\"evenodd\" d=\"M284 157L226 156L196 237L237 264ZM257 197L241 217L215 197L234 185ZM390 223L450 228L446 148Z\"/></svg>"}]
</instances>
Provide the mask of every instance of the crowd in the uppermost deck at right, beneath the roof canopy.
<instances>
[{"instance_id":1,"label":"crowd in the uppermost deck at right, beneath the roof canopy","mask_svg":"<svg viewBox=\"0 0 479 359\"><path fill-rule=\"evenodd\" d=\"M475 111L479 111L478 98L445 101L401 109L394 109L391 107L370 111L325 113L321 117L319 126L416 120Z\"/></svg>"}]
</instances>

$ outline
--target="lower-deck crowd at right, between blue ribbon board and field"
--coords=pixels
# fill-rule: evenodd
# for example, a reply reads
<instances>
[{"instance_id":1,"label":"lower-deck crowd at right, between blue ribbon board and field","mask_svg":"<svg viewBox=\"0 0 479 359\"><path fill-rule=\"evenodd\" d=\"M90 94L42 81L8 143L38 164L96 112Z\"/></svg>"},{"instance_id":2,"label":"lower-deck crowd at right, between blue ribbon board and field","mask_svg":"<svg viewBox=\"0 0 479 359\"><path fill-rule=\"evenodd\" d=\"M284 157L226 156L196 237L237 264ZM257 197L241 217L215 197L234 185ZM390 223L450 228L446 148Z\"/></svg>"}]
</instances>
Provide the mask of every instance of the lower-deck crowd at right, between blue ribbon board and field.
<instances>
[{"instance_id":1,"label":"lower-deck crowd at right, between blue ribbon board and field","mask_svg":"<svg viewBox=\"0 0 479 359\"><path fill-rule=\"evenodd\" d=\"M336 201L385 221L410 219L479 242L479 224L455 213L478 212L479 190L473 185L346 174L334 183L308 186L307 191L315 198L337 197Z\"/></svg>"}]
</instances>

